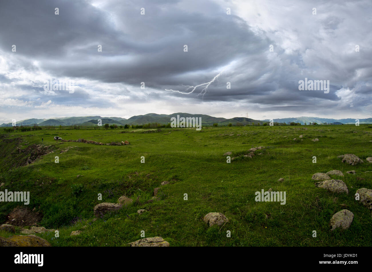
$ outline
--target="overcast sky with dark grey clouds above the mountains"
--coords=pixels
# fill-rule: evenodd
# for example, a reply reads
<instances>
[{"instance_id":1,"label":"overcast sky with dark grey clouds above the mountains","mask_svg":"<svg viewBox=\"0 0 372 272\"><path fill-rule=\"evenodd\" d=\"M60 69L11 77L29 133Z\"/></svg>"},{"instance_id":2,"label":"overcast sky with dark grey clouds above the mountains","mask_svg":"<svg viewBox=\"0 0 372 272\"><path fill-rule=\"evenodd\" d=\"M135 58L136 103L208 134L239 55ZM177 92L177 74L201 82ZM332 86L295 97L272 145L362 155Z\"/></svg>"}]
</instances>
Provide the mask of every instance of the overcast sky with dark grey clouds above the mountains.
<instances>
[{"instance_id":1,"label":"overcast sky with dark grey clouds above the mountains","mask_svg":"<svg viewBox=\"0 0 372 272\"><path fill-rule=\"evenodd\" d=\"M371 0L1 1L0 123L369 118L371 26ZM45 90L49 78L74 81L74 92ZM329 80L329 93L300 91L305 78Z\"/></svg>"}]
</instances>

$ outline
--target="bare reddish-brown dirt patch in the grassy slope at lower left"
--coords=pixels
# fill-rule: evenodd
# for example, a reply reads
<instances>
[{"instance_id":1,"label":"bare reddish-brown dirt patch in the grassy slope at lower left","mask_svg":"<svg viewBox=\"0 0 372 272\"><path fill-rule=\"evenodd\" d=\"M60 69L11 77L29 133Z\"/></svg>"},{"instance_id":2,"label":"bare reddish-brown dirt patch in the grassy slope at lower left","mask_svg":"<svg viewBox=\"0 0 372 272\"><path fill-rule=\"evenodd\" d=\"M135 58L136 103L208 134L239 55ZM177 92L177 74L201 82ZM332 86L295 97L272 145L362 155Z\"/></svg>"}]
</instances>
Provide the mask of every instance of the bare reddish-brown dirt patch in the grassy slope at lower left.
<instances>
[{"instance_id":1,"label":"bare reddish-brown dirt patch in the grassy slope at lower left","mask_svg":"<svg viewBox=\"0 0 372 272\"><path fill-rule=\"evenodd\" d=\"M27 207L16 207L7 215L6 224L13 226L37 226L43 218L43 214L36 212L35 208L31 211Z\"/></svg>"}]
</instances>

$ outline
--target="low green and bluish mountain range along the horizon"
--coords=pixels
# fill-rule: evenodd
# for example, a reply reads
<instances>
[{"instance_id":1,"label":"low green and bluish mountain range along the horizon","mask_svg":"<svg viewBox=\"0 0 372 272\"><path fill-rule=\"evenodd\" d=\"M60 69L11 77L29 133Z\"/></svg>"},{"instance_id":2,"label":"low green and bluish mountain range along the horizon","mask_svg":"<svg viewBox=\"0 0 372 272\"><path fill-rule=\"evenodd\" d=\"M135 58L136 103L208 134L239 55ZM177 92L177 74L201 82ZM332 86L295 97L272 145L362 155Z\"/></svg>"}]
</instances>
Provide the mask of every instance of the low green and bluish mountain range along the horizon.
<instances>
[{"instance_id":1,"label":"low green and bluish mountain range along the horizon","mask_svg":"<svg viewBox=\"0 0 372 272\"><path fill-rule=\"evenodd\" d=\"M129 119L121 118L121 117L100 117L100 116L84 116L84 117L61 117L61 118L51 118L51 119L24 119L17 121L17 125L24 125L24 126L32 126L37 124L39 126L70 126L70 125L83 125L83 126L91 126L97 125L98 119L102 120L102 124L116 124L116 125L142 125L148 123L159 123L159 124L168 124L170 123L171 117L176 117L180 115L180 117L201 117L202 118L202 125L213 125L214 123L218 123L218 125L228 125L231 123L232 125L251 125L252 123L260 123L263 124L264 122L270 122L270 119L266 120L255 120L246 117L234 117L230 119L222 118L222 117L212 117L205 114L188 114L188 113L173 113L173 114L155 114L149 113L145 115L135 115ZM295 117L295 118L280 118L274 119L274 122L278 123L301 123L302 125L311 123L318 123L322 124L324 122L327 123L335 123L335 124L355 124L354 118L346 118L346 119L330 119L330 118L318 118L318 117ZM365 118L359 119L360 124L371 124L372 118ZM3 123L0 127L12 127L12 123Z\"/></svg>"}]
</instances>

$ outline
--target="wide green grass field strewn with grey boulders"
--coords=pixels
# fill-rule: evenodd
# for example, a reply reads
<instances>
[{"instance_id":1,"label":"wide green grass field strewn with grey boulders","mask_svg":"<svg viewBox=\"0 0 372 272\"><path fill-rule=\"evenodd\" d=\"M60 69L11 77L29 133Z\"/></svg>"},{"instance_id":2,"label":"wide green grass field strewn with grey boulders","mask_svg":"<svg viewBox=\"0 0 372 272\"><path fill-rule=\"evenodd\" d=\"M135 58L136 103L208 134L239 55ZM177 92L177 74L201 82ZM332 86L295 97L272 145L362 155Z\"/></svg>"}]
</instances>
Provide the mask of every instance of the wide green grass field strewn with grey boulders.
<instances>
[{"instance_id":1,"label":"wide green grass field strewn with grey boulders","mask_svg":"<svg viewBox=\"0 0 372 272\"><path fill-rule=\"evenodd\" d=\"M161 236L170 246L372 245L371 212L354 198L357 189L372 189L372 172L365 173L372 171L372 164L365 160L372 156L371 125L145 131L101 128L1 132L0 183L5 185L0 190L30 191L28 209L36 208L44 216L38 225L60 232L58 238L54 233L38 234L52 246L126 246L141 239L142 230L145 237ZM55 135L103 143L128 140L130 145L56 143ZM302 141L299 135L303 135ZM28 166L12 167L25 154L15 152L18 144L11 138L21 138L21 148L28 146L25 143L52 145L54 153ZM311 141L314 138L319 141ZM256 152L253 158L243 157L248 149L258 146L265 147L258 150L262 155ZM60 154L67 147L73 148ZM228 151L232 152L231 158L240 157L227 163L224 153ZM337 156L346 153L357 155L365 163L342 163ZM59 163L55 163L55 156ZM141 163L141 156L145 163ZM317 163L312 163L313 156ZM348 195L314 186L314 173L334 169L344 173L344 177L332 178L347 184ZM356 174L347 174L349 170ZM279 182L279 178L284 181ZM160 186L162 181L170 184ZM147 203L155 187L161 187L160 200ZM285 205L255 201L256 191L270 188L286 192ZM102 200L97 199L99 193ZM122 195L138 201L93 221L96 204L117 203ZM354 213L354 220L349 229L331 232L329 221L343 209L341 204ZM1 203L0 223L16 206L24 205ZM138 209L147 212L138 214ZM230 222L208 227L202 219L209 212L221 212ZM70 236L73 230L83 232ZM227 237L228 230L231 237ZM317 237L312 237L313 230ZM16 231L19 233L20 227ZM0 236L10 235L0 232Z\"/></svg>"}]
</instances>

